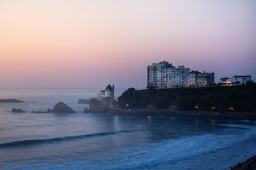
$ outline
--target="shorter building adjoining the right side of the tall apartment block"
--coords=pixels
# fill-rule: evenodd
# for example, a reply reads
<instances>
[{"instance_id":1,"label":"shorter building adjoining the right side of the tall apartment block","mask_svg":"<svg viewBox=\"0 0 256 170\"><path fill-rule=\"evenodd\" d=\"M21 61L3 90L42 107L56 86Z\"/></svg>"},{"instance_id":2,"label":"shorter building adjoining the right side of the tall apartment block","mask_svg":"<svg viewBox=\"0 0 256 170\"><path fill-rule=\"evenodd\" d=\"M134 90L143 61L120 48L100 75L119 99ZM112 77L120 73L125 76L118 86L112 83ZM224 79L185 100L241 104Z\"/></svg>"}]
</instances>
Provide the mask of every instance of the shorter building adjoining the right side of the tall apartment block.
<instances>
[{"instance_id":1,"label":"shorter building adjoining the right side of the tall apartment block","mask_svg":"<svg viewBox=\"0 0 256 170\"><path fill-rule=\"evenodd\" d=\"M214 85L214 73L191 71L186 87L207 87Z\"/></svg>"}]
</instances>

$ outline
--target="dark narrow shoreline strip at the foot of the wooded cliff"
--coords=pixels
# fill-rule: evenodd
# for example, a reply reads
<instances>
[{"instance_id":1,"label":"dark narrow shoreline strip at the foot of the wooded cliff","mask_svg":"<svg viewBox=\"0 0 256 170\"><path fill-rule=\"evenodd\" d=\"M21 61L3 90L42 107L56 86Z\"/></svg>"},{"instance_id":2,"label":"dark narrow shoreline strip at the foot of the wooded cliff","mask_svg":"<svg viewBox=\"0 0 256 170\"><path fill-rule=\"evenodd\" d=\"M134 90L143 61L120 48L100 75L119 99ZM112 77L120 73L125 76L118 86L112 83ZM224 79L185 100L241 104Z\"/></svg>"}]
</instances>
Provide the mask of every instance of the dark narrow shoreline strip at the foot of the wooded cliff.
<instances>
[{"instance_id":1,"label":"dark narrow shoreline strip at the foot of the wooded cliff","mask_svg":"<svg viewBox=\"0 0 256 170\"><path fill-rule=\"evenodd\" d=\"M147 110L147 109L121 109L111 108L112 115L145 115L145 116L167 116L177 118L210 118L225 120L256 120L253 113L220 113L211 111L172 111L172 110Z\"/></svg>"}]
</instances>

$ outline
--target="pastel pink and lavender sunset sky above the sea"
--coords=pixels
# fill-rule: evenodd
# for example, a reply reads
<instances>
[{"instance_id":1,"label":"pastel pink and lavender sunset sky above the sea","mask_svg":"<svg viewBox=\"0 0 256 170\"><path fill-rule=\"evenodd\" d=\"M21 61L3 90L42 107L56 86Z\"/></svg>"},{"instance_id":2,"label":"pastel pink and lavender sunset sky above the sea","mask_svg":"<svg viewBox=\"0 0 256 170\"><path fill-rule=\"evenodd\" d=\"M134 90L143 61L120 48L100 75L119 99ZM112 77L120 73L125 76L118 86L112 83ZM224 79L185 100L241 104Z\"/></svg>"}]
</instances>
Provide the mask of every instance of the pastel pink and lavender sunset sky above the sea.
<instances>
[{"instance_id":1,"label":"pastel pink and lavender sunset sky above the sea","mask_svg":"<svg viewBox=\"0 0 256 170\"><path fill-rule=\"evenodd\" d=\"M0 0L0 88L147 86L147 66L256 80L255 0Z\"/></svg>"}]
</instances>

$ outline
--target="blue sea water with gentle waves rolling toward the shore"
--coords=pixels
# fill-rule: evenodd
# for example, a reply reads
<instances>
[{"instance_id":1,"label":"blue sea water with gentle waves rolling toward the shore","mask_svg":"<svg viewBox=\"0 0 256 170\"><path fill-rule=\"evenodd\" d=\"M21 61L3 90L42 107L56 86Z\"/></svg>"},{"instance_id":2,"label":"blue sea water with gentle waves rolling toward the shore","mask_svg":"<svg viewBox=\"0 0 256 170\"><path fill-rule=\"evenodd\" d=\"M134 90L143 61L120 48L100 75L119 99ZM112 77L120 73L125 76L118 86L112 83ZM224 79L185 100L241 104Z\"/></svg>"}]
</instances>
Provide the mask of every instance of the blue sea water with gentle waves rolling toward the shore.
<instances>
[{"instance_id":1,"label":"blue sea water with gentle waves rolling toward the shore","mask_svg":"<svg viewBox=\"0 0 256 170\"><path fill-rule=\"evenodd\" d=\"M24 101L0 103L0 169L225 169L256 154L255 122L83 113L98 91L0 90ZM31 113L58 101L77 113Z\"/></svg>"}]
</instances>

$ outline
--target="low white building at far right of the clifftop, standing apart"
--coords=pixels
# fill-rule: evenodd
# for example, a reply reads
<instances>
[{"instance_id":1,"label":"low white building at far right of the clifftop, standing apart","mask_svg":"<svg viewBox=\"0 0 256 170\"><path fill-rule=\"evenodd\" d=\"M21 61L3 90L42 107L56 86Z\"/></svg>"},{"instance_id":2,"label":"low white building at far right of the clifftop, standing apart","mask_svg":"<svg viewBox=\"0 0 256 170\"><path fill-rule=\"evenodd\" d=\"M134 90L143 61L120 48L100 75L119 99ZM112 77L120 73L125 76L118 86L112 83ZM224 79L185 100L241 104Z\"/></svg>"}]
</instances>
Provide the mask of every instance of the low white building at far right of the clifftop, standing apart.
<instances>
[{"instance_id":1,"label":"low white building at far right of the clifftop, standing apart","mask_svg":"<svg viewBox=\"0 0 256 170\"><path fill-rule=\"evenodd\" d=\"M246 84L247 81L252 81L252 76L244 75L244 76L232 76L232 78L221 78L221 85L223 86L231 86L231 85L243 85Z\"/></svg>"}]
</instances>

